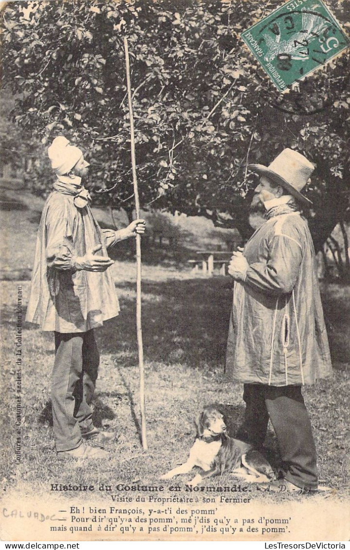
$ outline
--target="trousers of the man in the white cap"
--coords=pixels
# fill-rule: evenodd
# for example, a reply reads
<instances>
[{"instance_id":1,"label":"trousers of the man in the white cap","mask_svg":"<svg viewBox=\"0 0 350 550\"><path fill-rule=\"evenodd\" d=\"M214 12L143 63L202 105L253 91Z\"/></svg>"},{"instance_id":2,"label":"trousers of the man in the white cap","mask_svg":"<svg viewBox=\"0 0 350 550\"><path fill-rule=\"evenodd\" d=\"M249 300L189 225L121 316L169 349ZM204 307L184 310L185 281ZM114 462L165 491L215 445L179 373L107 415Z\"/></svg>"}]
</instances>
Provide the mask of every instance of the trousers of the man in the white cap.
<instances>
[{"instance_id":1,"label":"trousers of the man in the white cap","mask_svg":"<svg viewBox=\"0 0 350 550\"><path fill-rule=\"evenodd\" d=\"M95 392L99 353L93 330L55 332L52 372L53 433L57 451L81 444L81 433L93 428L90 407Z\"/></svg>"}]
</instances>

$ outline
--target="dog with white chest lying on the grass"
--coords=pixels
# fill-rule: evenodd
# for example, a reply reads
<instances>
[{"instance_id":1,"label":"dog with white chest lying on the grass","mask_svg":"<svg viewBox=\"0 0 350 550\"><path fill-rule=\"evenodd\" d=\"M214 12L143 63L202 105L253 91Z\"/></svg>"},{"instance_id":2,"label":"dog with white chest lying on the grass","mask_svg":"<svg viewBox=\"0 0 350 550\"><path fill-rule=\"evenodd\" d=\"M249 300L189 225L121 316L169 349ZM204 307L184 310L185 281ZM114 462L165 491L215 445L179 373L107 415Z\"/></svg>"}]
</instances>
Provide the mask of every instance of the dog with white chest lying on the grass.
<instances>
[{"instance_id":1,"label":"dog with white chest lying on the grass","mask_svg":"<svg viewBox=\"0 0 350 550\"><path fill-rule=\"evenodd\" d=\"M161 479L188 474L199 466L203 473L190 482L193 487L205 477L230 472L248 483L266 483L275 479L268 461L253 445L227 435L224 415L216 406L206 407L195 421L197 434L187 462L170 470Z\"/></svg>"}]
</instances>

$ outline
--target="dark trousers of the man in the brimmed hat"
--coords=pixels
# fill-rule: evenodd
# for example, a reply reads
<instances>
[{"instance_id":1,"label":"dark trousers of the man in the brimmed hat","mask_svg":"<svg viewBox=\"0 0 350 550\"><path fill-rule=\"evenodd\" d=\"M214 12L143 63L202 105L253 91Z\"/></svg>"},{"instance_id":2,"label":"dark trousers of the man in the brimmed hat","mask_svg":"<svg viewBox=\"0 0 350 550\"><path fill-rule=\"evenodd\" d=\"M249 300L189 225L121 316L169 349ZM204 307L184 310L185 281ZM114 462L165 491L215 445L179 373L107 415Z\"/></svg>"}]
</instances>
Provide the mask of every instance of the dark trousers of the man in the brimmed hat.
<instances>
[{"instance_id":1,"label":"dark trousers of the man in the brimmed hat","mask_svg":"<svg viewBox=\"0 0 350 550\"><path fill-rule=\"evenodd\" d=\"M316 448L301 386L245 384L245 420L237 438L261 447L269 418L285 466L285 478L297 487L316 488Z\"/></svg>"}]
</instances>

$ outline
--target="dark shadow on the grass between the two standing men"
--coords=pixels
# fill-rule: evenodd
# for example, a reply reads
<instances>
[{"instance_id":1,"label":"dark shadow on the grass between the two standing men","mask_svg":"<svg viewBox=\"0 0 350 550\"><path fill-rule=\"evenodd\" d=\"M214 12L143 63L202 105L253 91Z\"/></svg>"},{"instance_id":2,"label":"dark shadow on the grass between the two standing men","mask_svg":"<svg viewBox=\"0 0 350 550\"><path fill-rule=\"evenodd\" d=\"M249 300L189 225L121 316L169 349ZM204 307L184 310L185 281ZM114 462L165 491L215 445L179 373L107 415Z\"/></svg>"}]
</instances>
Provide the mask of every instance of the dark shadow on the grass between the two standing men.
<instances>
[{"instance_id":1,"label":"dark shadow on the grass between the two standing men","mask_svg":"<svg viewBox=\"0 0 350 550\"><path fill-rule=\"evenodd\" d=\"M122 288L120 316L105 324L98 339L105 352L123 353L123 361L134 361L135 289L127 284ZM145 282L142 292L145 361L224 368L232 299L224 278Z\"/></svg>"}]
</instances>

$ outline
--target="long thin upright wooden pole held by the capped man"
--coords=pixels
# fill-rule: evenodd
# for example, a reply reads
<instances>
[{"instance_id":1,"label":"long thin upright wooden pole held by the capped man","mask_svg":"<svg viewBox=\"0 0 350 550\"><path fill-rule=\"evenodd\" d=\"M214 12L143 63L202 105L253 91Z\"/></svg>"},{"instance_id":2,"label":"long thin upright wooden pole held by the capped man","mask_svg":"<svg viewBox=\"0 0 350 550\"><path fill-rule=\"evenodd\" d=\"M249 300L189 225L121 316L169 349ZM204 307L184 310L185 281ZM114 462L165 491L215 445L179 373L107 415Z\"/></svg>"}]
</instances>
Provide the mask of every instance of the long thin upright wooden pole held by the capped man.
<instances>
[{"instance_id":1,"label":"long thin upright wooden pole held by the capped man","mask_svg":"<svg viewBox=\"0 0 350 550\"><path fill-rule=\"evenodd\" d=\"M134 182L136 218L140 218L140 199L138 197L136 159L135 159L134 114L132 112L129 49L127 47L126 36L124 37L124 50L125 50L127 101L129 103L129 117L130 117L132 181ZM143 367L143 345L142 345L142 325L141 325L141 237L138 234L136 235L136 266L137 266L136 330L137 330L137 347L138 347L138 366L140 367L141 441L142 441L142 448L144 450L147 450L148 447L147 447L146 412L145 412L145 370Z\"/></svg>"}]
</instances>

